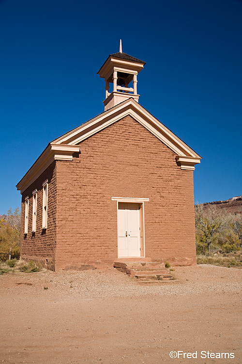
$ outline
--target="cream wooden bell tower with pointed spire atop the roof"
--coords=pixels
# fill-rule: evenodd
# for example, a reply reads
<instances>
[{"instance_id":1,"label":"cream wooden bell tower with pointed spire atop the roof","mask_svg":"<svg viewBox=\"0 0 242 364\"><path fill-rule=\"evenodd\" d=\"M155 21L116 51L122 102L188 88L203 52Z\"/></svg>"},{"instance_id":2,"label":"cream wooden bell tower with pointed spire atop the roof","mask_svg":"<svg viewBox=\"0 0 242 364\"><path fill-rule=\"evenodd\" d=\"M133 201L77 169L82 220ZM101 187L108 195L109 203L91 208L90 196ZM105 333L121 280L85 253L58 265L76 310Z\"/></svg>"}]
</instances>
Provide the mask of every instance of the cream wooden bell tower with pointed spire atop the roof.
<instances>
[{"instance_id":1,"label":"cream wooden bell tower with pointed spire atop the roof","mask_svg":"<svg viewBox=\"0 0 242 364\"><path fill-rule=\"evenodd\" d=\"M109 54L106 62L97 72L100 77L105 79L106 83L106 99L103 101L105 111L129 98L138 102L137 74L144 65L145 62L140 61L140 59L122 52L120 40L119 53ZM133 82L133 87L129 87L131 82ZM110 83L113 83L111 92L109 92Z\"/></svg>"}]
</instances>

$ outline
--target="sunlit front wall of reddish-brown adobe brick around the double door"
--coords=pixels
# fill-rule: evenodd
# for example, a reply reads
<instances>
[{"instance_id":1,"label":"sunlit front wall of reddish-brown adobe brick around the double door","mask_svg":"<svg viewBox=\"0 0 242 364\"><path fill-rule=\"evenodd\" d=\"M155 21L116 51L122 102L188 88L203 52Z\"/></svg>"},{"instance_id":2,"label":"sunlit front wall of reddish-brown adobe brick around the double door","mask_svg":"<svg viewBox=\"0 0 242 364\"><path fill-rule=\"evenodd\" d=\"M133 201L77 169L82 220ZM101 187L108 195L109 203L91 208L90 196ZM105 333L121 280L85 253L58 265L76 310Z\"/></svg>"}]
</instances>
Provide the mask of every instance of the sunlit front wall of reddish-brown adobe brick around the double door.
<instances>
[{"instance_id":1,"label":"sunlit front wall of reddish-brown adobe brick around the double door","mask_svg":"<svg viewBox=\"0 0 242 364\"><path fill-rule=\"evenodd\" d=\"M171 149L127 116L80 150L72 162L56 162L57 270L117 258L112 196L150 199L144 203L146 257L196 264L193 171L181 170Z\"/></svg>"}]
</instances>

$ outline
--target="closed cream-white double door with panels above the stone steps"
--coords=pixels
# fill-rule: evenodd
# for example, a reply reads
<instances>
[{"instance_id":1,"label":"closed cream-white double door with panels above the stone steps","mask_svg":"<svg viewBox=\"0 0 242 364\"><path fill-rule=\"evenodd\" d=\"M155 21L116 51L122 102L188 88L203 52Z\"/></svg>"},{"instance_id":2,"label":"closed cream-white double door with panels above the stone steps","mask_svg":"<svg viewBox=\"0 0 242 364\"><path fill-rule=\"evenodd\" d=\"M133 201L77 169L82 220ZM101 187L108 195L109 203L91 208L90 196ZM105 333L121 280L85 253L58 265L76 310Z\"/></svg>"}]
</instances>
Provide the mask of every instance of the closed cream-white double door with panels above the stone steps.
<instances>
[{"instance_id":1,"label":"closed cream-white double door with panels above the stone steps","mask_svg":"<svg viewBox=\"0 0 242 364\"><path fill-rule=\"evenodd\" d=\"M140 257L139 203L119 202L118 257Z\"/></svg>"}]
</instances>

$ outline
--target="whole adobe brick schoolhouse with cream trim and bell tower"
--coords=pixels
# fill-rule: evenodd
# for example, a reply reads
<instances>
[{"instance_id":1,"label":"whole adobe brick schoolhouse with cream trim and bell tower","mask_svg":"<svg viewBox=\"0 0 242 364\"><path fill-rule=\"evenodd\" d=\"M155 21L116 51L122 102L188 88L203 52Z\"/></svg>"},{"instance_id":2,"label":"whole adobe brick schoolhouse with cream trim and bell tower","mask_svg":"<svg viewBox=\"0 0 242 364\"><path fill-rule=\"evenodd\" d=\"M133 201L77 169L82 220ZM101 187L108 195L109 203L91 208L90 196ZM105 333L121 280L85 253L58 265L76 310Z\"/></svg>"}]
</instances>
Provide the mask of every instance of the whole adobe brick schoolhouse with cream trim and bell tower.
<instances>
[{"instance_id":1,"label":"whole adobe brick schoolhouse with cream trim and bell tower","mask_svg":"<svg viewBox=\"0 0 242 364\"><path fill-rule=\"evenodd\" d=\"M49 143L18 182L23 259L56 271L119 259L196 264L201 157L138 103L144 65L109 55L98 72L105 112Z\"/></svg>"}]
</instances>

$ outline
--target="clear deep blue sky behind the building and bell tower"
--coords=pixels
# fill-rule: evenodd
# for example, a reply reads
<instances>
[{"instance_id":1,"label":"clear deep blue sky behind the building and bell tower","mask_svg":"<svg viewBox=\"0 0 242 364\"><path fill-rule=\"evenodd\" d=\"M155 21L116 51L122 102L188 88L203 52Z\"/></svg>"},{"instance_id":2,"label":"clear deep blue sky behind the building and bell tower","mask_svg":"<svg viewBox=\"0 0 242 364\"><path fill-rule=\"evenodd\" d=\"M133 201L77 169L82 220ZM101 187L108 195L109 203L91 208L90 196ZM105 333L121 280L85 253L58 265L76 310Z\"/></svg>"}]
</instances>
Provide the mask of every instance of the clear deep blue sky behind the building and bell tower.
<instances>
[{"instance_id":1,"label":"clear deep blue sky behind the building and bell tower","mask_svg":"<svg viewBox=\"0 0 242 364\"><path fill-rule=\"evenodd\" d=\"M241 0L0 0L0 214L53 139L104 111L97 71L146 62L139 103L202 156L195 202L242 194Z\"/></svg>"}]
</instances>

